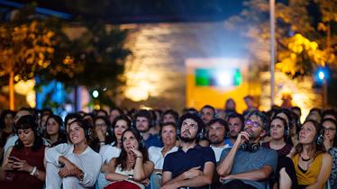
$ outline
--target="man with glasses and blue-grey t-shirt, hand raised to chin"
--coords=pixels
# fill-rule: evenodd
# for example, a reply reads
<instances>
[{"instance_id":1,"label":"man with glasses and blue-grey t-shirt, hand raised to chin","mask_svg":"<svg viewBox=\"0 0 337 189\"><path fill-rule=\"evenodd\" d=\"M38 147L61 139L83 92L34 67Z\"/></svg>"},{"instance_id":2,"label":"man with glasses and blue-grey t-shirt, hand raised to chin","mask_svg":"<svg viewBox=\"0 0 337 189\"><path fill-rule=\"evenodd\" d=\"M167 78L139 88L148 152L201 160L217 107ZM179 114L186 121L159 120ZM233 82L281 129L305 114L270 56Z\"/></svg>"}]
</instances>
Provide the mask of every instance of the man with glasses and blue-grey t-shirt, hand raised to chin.
<instances>
[{"instance_id":1,"label":"man with glasses and blue-grey t-shirt, hand raised to chin","mask_svg":"<svg viewBox=\"0 0 337 189\"><path fill-rule=\"evenodd\" d=\"M216 167L223 185L220 188L265 189L269 176L275 173L278 153L260 147L260 139L267 134L269 121L259 111L250 112L232 148L223 149L220 164Z\"/></svg>"}]
</instances>

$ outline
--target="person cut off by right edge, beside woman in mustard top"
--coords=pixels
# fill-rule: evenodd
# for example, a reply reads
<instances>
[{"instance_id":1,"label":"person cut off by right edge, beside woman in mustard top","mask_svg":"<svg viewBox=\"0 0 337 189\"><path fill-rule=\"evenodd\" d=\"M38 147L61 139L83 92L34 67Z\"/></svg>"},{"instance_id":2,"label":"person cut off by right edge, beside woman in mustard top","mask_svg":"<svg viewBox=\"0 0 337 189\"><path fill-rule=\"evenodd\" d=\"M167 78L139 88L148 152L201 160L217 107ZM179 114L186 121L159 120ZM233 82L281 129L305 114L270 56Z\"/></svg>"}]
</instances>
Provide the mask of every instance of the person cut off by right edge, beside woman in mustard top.
<instances>
[{"instance_id":1,"label":"person cut off by right edge, beside woman in mustard top","mask_svg":"<svg viewBox=\"0 0 337 189\"><path fill-rule=\"evenodd\" d=\"M337 122L331 118L322 120L322 129L324 130L324 148L332 156L332 174L329 178L331 188L337 188Z\"/></svg>"}]
</instances>

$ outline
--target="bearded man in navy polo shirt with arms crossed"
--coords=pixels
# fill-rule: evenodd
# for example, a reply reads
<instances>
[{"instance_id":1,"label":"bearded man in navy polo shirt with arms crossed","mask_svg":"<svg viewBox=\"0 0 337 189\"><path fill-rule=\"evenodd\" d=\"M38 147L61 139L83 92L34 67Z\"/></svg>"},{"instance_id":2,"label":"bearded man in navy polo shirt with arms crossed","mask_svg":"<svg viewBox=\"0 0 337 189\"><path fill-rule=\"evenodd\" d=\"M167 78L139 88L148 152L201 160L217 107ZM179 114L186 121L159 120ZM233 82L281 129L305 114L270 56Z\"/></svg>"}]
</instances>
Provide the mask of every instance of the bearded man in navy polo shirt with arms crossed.
<instances>
[{"instance_id":1,"label":"bearded man in navy polo shirt with arms crossed","mask_svg":"<svg viewBox=\"0 0 337 189\"><path fill-rule=\"evenodd\" d=\"M212 148L201 147L197 142L204 122L191 113L181 116L178 122L181 147L165 157L162 189L207 189L212 184L215 157Z\"/></svg>"}]
</instances>

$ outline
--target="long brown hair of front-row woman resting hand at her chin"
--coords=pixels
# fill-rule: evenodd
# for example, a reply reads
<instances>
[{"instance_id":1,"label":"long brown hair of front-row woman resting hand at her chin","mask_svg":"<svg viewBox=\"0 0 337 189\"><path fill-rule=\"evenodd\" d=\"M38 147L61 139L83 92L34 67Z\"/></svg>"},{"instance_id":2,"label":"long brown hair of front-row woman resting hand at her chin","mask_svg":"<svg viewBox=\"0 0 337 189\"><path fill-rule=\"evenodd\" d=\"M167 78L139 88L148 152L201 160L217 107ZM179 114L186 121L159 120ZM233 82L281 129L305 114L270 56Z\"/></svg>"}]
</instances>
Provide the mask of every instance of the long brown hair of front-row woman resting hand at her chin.
<instances>
[{"instance_id":1,"label":"long brown hair of front-row woman resting hand at her chin","mask_svg":"<svg viewBox=\"0 0 337 189\"><path fill-rule=\"evenodd\" d=\"M138 150L141 151L142 163L144 164L146 161L149 161L148 149L145 148L145 144L144 144L144 141L141 137L141 133L138 130L129 128L129 129L123 131L122 147L121 147L122 151L121 151L121 154L119 155L119 157L116 158L116 163L114 165L114 168L116 168L117 166L121 166L122 170L124 170L126 168L127 153L126 153L125 148L123 146L123 138L124 138L124 134L128 131L132 132L133 136L138 141Z\"/></svg>"}]
</instances>

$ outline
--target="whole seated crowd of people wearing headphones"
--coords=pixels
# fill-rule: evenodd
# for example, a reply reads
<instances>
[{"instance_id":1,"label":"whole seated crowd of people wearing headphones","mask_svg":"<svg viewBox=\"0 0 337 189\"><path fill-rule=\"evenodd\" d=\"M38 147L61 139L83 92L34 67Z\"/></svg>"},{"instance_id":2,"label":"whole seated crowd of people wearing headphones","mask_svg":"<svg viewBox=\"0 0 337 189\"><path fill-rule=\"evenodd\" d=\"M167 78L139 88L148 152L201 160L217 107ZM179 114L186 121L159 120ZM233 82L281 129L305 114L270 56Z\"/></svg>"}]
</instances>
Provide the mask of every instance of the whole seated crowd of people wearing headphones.
<instances>
[{"instance_id":1,"label":"whole seated crowd of people wearing headphones","mask_svg":"<svg viewBox=\"0 0 337 189\"><path fill-rule=\"evenodd\" d=\"M1 111L0 188L337 188L337 112Z\"/></svg>"}]
</instances>

